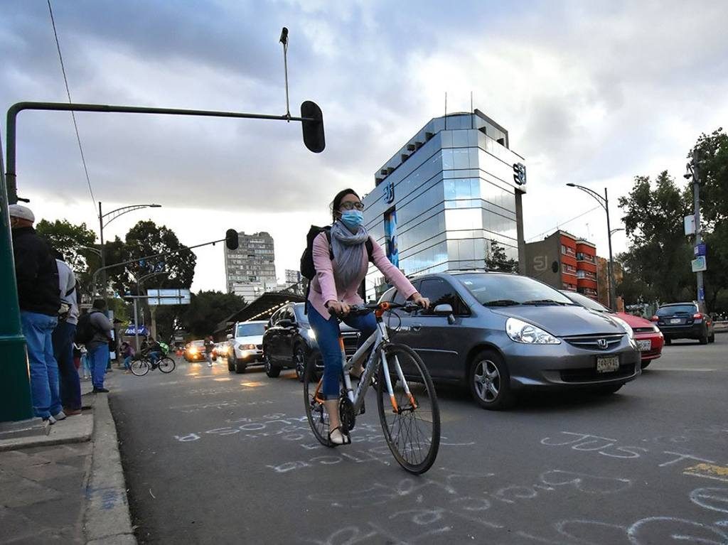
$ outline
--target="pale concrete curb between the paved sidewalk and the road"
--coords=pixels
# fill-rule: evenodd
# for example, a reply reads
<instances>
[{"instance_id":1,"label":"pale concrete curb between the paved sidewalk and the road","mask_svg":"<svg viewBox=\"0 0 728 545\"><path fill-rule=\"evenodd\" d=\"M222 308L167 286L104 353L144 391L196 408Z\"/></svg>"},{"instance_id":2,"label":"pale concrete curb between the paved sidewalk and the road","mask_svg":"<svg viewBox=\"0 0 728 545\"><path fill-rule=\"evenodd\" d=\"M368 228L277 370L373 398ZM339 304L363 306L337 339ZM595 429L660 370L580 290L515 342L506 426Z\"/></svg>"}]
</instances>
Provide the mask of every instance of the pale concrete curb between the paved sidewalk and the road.
<instances>
[{"instance_id":1,"label":"pale concrete curb between the paved sidewalk and the road","mask_svg":"<svg viewBox=\"0 0 728 545\"><path fill-rule=\"evenodd\" d=\"M86 488L84 534L87 544L135 545L116 424L108 395L94 401L93 455Z\"/></svg>"}]
</instances>

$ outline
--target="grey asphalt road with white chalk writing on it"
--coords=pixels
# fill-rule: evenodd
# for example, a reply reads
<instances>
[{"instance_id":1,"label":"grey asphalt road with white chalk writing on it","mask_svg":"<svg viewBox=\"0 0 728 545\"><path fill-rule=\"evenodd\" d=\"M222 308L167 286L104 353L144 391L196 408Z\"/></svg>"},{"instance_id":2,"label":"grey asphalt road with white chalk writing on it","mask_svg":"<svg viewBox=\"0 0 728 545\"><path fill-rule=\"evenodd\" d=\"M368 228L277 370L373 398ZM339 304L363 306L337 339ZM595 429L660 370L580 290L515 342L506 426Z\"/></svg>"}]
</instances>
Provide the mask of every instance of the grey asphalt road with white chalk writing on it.
<instances>
[{"instance_id":1,"label":"grey asphalt road with white chalk writing on it","mask_svg":"<svg viewBox=\"0 0 728 545\"><path fill-rule=\"evenodd\" d=\"M666 346L609 397L496 413L438 389L442 446L422 477L393 460L373 398L355 442L328 449L292 372L259 369L116 381L142 543L728 544L728 335Z\"/></svg>"}]
</instances>

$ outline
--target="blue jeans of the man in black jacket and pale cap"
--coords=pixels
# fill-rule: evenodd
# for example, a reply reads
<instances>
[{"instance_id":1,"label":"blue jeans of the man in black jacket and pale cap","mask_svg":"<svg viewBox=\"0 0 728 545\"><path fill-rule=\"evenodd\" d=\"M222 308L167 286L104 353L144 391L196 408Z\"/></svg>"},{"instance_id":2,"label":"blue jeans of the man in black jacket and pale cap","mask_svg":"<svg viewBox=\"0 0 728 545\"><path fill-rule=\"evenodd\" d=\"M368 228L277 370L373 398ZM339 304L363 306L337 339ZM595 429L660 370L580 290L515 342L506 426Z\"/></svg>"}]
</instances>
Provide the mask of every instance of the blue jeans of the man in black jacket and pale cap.
<instances>
[{"instance_id":1,"label":"blue jeans of the man in black jacket and pale cap","mask_svg":"<svg viewBox=\"0 0 728 545\"><path fill-rule=\"evenodd\" d=\"M23 335L28 345L33 413L39 418L48 418L50 415L60 413L61 410L58 363L53 357L52 341L58 318L37 312L20 311L20 323L23 325Z\"/></svg>"}]
</instances>

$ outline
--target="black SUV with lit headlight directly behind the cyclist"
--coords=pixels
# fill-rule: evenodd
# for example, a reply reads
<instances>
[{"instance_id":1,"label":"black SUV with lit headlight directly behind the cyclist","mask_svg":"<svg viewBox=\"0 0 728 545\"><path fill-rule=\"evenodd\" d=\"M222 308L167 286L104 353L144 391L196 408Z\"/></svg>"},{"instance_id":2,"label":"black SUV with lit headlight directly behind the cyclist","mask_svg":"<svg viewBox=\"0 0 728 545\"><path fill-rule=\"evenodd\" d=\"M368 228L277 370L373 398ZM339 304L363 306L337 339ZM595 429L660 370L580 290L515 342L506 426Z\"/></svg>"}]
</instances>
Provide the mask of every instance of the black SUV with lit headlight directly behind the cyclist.
<instances>
[{"instance_id":1,"label":"black SUV with lit headlight directly behind the cyclist","mask_svg":"<svg viewBox=\"0 0 728 545\"><path fill-rule=\"evenodd\" d=\"M316 343L316 335L304 314L305 303L288 303L278 309L268 322L263 335L263 354L266 375L275 378L283 369L295 369L299 381L304 380L306 362L313 359L319 373L323 372L323 360ZM344 351L351 356L357 349L359 332L342 323L341 336Z\"/></svg>"}]
</instances>

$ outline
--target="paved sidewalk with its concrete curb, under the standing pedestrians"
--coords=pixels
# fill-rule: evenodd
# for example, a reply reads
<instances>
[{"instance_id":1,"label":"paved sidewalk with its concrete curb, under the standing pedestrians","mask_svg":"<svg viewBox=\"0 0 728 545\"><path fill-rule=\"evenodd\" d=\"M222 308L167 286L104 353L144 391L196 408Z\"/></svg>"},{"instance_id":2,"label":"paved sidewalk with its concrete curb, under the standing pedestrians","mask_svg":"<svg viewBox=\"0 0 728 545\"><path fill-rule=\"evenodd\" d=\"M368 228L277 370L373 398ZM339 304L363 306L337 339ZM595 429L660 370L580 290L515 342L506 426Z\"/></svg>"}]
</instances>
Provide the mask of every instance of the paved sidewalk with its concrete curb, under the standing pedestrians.
<instances>
[{"instance_id":1,"label":"paved sidewalk with its concrete curb, under the standing pedestrians","mask_svg":"<svg viewBox=\"0 0 728 545\"><path fill-rule=\"evenodd\" d=\"M114 388L114 375L106 385ZM0 440L2 543L135 544L108 394L84 381L82 415Z\"/></svg>"}]
</instances>

